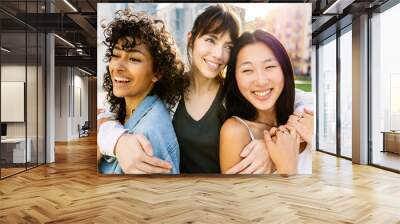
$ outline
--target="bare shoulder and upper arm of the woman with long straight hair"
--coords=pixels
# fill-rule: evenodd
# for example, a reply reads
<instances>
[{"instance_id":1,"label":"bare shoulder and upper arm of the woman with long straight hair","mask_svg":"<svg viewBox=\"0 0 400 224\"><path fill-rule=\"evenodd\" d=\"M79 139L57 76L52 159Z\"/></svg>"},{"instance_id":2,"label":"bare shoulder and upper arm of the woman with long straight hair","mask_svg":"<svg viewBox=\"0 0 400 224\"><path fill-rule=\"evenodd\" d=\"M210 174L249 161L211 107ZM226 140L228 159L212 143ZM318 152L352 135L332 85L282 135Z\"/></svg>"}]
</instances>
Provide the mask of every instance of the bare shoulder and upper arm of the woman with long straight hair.
<instances>
[{"instance_id":1,"label":"bare shoulder and upper arm of the woman with long straight hair","mask_svg":"<svg viewBox=\"0 0 400 224\"><path fill-rule=\"evenodd\" d=\"M239 163L240 152L251 141L247 127L235 118L229 118L221 127L219 161L221 173Z\"/></svg>"}]
</instances>

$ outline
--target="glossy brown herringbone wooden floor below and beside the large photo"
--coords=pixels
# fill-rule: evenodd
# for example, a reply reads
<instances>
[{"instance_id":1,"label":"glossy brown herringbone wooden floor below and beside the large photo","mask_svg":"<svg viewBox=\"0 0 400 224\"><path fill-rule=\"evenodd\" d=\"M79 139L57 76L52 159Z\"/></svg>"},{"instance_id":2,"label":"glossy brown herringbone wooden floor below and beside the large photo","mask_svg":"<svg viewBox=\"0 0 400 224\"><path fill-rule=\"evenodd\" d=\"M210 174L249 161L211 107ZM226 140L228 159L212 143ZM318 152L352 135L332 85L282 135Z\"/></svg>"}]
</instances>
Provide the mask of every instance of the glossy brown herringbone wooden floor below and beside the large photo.
<instances>
[{"instance_id":1,"label":"glossy brown herringbone wooden floor below and beside the large photo","mask_svg":"<svg viewBox=\"0 0 400 224\"><path fill-rule=\"evenodd\" d=\"M311 176L99 177L94 137L0 181L0 223L400 223L400 175L316 152Z\"/></svg>"}]
</instances>

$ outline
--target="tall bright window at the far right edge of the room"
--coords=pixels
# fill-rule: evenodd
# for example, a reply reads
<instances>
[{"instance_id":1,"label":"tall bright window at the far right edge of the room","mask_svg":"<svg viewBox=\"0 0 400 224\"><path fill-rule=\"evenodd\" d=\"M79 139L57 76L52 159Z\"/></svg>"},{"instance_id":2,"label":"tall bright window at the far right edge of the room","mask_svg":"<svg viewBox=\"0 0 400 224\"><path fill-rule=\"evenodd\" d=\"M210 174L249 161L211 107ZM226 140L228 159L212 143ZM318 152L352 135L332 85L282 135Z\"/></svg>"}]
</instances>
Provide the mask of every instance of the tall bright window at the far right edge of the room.
<instances>
[{"instance_id":1,"label":"tall bright window at the far right edge of the room","mask_svg":"<svg viewBox=\"0 0 400 224\"><path fill-rule=\"evenodd\" d=\"M400 4L371 18L372 163L400 170Z\"/></svg>"}]
</instances>

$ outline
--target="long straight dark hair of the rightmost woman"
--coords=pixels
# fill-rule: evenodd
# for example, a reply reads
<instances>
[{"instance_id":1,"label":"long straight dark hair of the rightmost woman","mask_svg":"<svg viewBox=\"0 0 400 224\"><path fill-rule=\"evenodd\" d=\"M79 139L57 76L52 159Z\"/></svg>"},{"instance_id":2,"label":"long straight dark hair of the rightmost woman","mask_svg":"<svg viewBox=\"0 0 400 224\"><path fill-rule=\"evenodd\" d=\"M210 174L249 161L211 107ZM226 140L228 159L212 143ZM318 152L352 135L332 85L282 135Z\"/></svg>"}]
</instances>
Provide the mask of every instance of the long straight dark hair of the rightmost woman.
<instances>
[{"instance_id":1,"label":"long straight dark hair of the rightmost woman","mask_svg":"<svg viewBox=\"0 0 400 224\"><path fill-rule=\"evenodd\" d=\"M236 81L236 63L237 56L243 47L258 42L264 43L272 50L283 72L283 90L274 105L277 124L283 125L287 122L289 116L293 114L295 88L292 64L281 42L272 34L262 30L256 30L253 33L245 32L235 41L222 90L226 103L227 117L238 116L247 120L255 120L257 118L257 109L239 91Z\"/></svg>"}]
</instances>

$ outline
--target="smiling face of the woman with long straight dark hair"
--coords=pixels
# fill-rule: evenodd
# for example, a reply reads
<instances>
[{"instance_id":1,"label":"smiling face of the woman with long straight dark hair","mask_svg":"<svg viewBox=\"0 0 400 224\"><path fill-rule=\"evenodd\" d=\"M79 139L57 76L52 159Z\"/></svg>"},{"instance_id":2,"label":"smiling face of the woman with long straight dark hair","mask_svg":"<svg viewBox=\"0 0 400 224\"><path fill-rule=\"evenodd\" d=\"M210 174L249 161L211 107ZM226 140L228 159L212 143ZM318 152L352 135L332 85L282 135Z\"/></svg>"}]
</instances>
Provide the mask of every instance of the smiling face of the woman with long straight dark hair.
<instances>
[{"instance_id":1,"label":"smiling face of the woman with long straight dark hair","mask_svg":"<svg viewBox=\"0 0 400 224\"><path fill-rule=\"evenodd\" d=\"M240 93L258 111L273 110L284 87L282 68L262 42L244 46L238 53L236 81Z\"/></svg>"}]
</instances>

